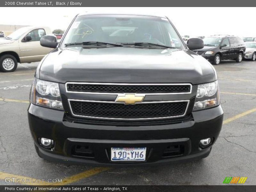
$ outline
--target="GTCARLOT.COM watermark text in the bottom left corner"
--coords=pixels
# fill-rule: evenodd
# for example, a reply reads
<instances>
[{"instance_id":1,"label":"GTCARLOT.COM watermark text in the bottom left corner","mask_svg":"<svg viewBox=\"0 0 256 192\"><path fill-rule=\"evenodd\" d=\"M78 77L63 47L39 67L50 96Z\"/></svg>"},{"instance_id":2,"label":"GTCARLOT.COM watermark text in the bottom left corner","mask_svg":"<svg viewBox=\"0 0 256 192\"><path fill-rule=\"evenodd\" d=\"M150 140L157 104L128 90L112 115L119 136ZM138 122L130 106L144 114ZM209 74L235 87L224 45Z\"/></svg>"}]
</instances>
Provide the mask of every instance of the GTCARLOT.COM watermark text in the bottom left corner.
<instances>
[{"instance_id":1,"label":"GTCARLOT.COM watermark text in the bottom left corner","mask_svg":"<svg viewBox=\"0 0 256 192\"><path fill-rule=\"evenodd\" d=\"M4 178L6 183L62 183L62 179L20 179L16 177Z\"/></svg>"}]
</instances>

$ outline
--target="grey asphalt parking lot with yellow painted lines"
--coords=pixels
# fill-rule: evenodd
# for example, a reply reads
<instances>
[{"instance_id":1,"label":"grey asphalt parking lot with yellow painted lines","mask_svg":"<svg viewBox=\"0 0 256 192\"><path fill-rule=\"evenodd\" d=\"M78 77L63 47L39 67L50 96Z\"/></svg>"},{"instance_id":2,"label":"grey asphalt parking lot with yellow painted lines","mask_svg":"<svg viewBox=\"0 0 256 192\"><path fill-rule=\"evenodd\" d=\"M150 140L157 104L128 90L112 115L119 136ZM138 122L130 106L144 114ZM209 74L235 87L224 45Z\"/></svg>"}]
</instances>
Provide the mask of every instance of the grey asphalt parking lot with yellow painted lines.
<instances>
[{"instance_id":1,"label":"grey asphalt parking lot with yellow painted lines","mask_svg":"<svg viewBox=\"0 0 256 192\"><path fill-rule=\"evenodd\" d=\"M0 185L19 184L6 183L6 177L62 179L62 185L222 185L225 177L247 177L244 185L256 185L256 62L214 66L225 115L207 158L136 168L56 164L37 156L27 119L37 65L19 64L15 72L0 72Z\"/></svg>"}]
</instances>

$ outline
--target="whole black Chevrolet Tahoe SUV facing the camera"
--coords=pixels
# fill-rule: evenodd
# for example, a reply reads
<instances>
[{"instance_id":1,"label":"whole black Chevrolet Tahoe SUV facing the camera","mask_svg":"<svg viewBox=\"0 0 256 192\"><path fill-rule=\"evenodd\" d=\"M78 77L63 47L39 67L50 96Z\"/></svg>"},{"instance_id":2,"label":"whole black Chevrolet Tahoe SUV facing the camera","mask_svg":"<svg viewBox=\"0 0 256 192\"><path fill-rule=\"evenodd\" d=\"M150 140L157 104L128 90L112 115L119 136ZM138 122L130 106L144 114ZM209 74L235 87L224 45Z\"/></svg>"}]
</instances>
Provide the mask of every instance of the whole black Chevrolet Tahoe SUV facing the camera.
<instances>
[{"instance_id":1,"label":"whole black Chevrolet Tahoe SUV facing the camera","mask_svg":"<svg viewBox=\"0 0 256 192\"><path fill-rule=\"evenodd\" d=\"M28 121L37 154L86 165L209 155L223 110L215 69L156 15L79 14L38 65Z\"/></svg>"}]
</instances>

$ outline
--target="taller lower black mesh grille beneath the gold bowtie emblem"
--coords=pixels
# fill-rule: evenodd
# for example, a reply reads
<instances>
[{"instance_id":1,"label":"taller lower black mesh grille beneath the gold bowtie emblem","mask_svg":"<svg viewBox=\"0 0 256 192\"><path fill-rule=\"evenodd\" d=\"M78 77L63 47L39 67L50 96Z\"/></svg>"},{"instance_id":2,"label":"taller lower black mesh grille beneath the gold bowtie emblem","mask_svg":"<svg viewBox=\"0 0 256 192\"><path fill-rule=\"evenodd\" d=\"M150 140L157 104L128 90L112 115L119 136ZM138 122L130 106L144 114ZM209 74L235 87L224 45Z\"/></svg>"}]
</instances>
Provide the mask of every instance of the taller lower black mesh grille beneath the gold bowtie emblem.
<instances>
[{"instance_id":1,"label":"taller lower black mesh grille beneath the gold bowtie emblem","mask_svg":"<svg viewBox=\"0 0 256 192\"><path fill-rule=\"evenodd\" d=\"M141 118L183 116L188 105L188 101L140 103L135 105L74 100L70 100L69 102L75 116L135 120Z\"/></svg>"}]
</instances>

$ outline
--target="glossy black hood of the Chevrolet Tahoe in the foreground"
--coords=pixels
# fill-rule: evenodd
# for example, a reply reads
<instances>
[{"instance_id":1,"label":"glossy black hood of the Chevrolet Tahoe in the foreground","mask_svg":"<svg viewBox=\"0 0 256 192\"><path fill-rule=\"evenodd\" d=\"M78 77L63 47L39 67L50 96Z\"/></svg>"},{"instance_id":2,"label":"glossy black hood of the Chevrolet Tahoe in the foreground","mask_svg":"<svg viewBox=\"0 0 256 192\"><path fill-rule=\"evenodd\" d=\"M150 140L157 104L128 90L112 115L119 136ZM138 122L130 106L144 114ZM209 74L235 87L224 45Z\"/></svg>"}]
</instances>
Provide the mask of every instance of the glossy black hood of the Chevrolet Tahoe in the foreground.
<instances>
[{"instance_id":1,"label":"glossy black hood of the Chevrolet Tahoe in the foreground","mask_svg":"<svg viewBox=\"0 0 256 192\"><path fill-rule=\"evenodd\" d=\"M192 83L216 80L203 57L177 49L131 47L56 49L40 68L40 79L66 83Z\"/></svg>"}]
</instances>

